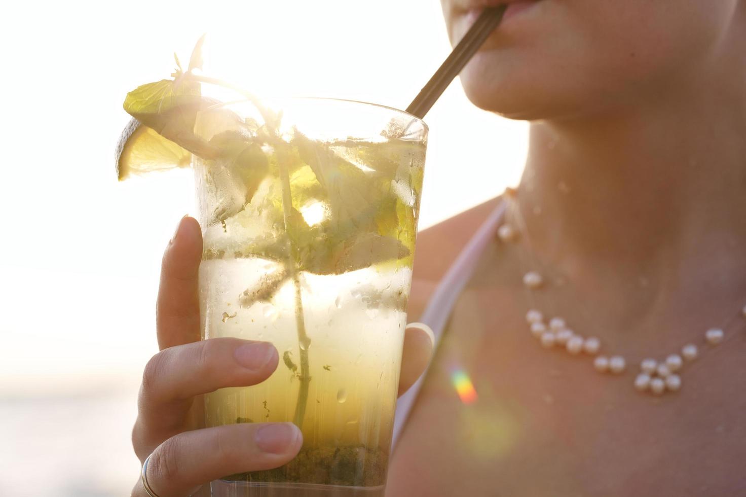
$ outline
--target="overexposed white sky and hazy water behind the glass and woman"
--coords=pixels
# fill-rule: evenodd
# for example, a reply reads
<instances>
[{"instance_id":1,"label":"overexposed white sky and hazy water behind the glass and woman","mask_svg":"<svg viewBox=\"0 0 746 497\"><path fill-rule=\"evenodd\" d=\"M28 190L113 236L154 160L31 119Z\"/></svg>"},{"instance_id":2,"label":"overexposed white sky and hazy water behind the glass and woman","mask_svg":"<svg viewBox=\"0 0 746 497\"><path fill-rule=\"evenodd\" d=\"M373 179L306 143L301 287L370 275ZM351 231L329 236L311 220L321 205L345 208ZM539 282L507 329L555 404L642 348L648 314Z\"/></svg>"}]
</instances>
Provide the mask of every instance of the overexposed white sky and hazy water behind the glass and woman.
<instances>
[{"instance_id":1,"label":"overexposed white sky and hazy water behind the glass and woman","mask_svg":"<svg viewBox=\"0 0 746 497\"><path fill-rule=\"evenodd\" d=\"M207 32L204 72L260 95L404 108L448 54L437 0L20 1L0 17L0 495L122 496L156 351L161 253L189 172L119 184L125 94ZM526 125L454 82L427 116L420 227L515 184Z\"/></svg>"}]
</instances>

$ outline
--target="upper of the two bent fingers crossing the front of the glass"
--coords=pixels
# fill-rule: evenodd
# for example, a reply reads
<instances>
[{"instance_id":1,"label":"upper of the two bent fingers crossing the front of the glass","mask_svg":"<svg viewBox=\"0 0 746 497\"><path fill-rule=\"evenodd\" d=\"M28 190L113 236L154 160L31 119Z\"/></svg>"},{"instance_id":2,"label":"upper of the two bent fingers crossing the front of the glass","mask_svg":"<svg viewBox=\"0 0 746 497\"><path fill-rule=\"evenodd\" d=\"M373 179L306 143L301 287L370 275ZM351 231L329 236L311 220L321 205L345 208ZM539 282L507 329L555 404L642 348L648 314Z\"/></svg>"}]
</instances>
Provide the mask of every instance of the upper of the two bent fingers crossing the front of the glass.
<instances>
[{"instance_id":1,"label":"upper of the two bent fingers crossing the front of the glass","mask_svg":"<svg viewBox=\"0 0 746 497\"><path fill-rule=\"evenodd\" d=\"M213 338L158 352L142 375L135 445L147 450L181 431L194 396L261 383L277 366L272 343L238 338Z\"/></svg>"}]
</instances>

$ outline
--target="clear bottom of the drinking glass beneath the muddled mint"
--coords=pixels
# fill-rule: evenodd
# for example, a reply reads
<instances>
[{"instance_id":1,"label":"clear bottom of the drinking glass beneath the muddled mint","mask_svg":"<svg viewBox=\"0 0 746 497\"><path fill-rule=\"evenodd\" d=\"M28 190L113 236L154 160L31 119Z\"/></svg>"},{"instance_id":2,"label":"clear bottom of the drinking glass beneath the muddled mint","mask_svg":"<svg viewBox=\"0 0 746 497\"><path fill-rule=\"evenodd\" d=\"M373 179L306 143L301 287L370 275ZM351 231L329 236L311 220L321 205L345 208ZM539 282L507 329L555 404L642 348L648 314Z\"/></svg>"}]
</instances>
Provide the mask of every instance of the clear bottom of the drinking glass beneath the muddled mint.
<instances>
[{"instance_id":1,"label":"clear bottom of the drinking glass beneath the muddled mint","mask_svg":"<svg viewBox=\"0 0 746 497\"><path fill-rule=\"evenodd\" d=\"M297 483L247 483L216 480L210 484L213 497L383 497L385 485L377 487L343 487Z\"/></svg>"}]
</instances>

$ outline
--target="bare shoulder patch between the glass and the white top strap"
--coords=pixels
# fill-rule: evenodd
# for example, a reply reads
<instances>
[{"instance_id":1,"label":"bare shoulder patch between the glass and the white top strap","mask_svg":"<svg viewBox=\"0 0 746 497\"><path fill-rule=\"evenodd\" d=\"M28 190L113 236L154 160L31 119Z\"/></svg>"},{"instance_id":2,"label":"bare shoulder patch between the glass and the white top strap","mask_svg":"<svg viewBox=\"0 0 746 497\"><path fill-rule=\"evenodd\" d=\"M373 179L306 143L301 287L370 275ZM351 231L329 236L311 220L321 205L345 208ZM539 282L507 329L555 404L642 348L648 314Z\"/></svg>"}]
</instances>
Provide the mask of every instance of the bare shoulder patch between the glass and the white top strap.
<instances>
[{"instance_id":1,"label":"bare shoulder patch between the glass and the white top strap","mask_svg":"<svg viewBox=\"0 0 746 497\"><path fill-rule=\"evenodd\" d=\"M438 282L499 201L499 197L486 201L417 234L408 310L410 321L424 310Z\"/></svg>"}]
</instances>

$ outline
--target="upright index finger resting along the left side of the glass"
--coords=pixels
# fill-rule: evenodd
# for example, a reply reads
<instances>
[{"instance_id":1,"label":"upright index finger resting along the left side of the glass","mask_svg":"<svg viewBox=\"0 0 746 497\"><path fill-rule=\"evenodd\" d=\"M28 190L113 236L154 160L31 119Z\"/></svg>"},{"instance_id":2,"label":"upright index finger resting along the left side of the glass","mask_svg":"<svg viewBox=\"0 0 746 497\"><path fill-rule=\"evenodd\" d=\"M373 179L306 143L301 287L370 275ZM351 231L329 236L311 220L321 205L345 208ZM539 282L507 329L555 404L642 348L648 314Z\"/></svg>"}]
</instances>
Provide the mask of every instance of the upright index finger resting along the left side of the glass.
<instances>
[{"instance_id":1,"label":"upright index finger resting along the left side of the glass","mask_svg":"<svg viewBox=\"0 0 746 497\"><path fill-rule=\"evenodd\" d=\"M198 270L202 232L196 219L184 216L163 254L156 304L158 347L199 340Z\"/></svg>"}]
</instances>

